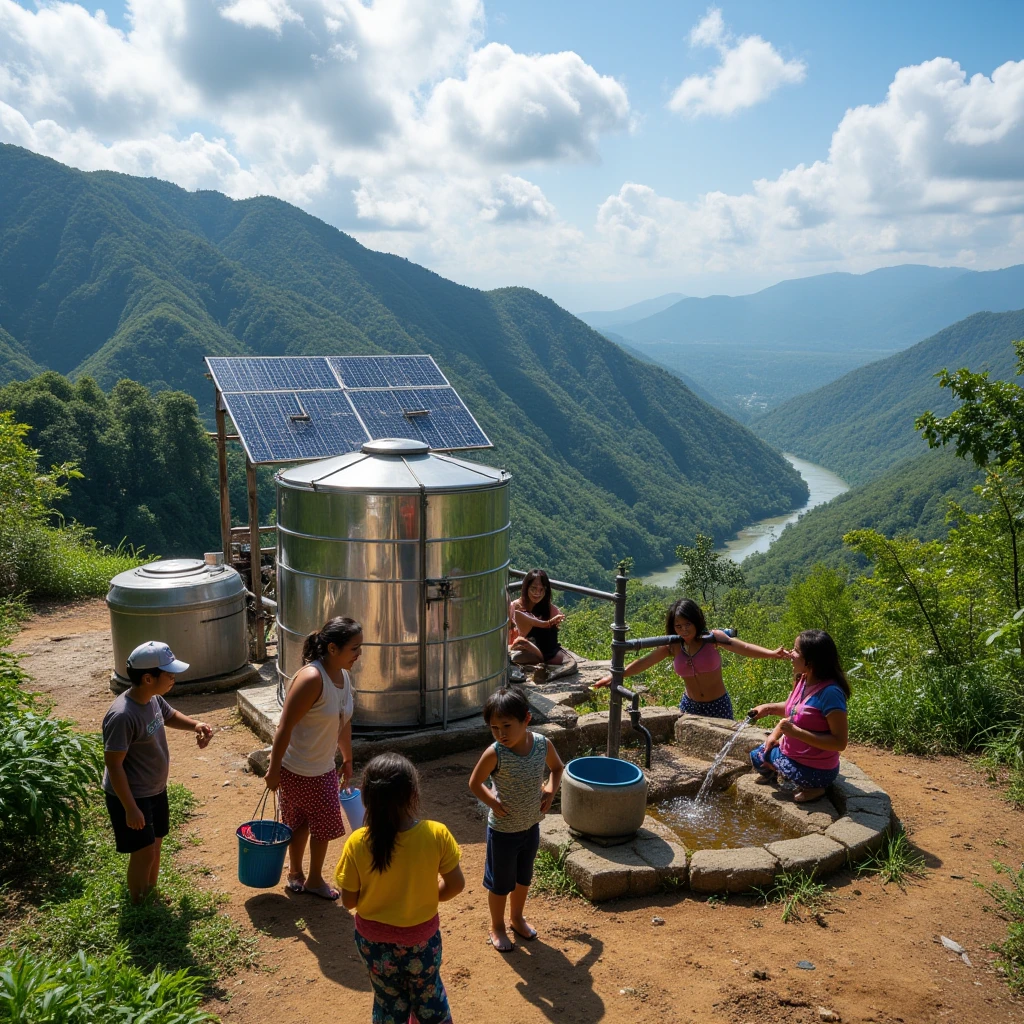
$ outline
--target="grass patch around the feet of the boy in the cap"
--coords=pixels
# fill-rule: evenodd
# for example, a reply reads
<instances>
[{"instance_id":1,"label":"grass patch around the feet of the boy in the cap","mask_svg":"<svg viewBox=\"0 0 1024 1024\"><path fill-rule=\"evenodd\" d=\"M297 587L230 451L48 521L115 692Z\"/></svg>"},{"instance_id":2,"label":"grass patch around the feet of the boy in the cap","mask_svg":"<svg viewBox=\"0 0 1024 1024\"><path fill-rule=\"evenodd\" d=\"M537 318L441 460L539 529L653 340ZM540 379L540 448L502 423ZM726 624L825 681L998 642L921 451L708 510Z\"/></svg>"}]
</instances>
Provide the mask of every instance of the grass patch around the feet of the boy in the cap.
<instances>
[{"instance_id":1,"label":"grass patch around the feet of the boy in the cap","mask_svg":"<svg viewBox=\"0 0 1024 1024\"><path fill-rule=\"evenodd\" d=\"M251 967L256 940L245 938L221 909L227 897L199 889L198 870L178 867L172 854L182 845L181 830L195 798L181 785L168 786L171 833L164 840L160 890L166 902L133 906L125 886L126 858L114 848L101 797L85 815L74 861L54 865L38 887L26 892L35 902L28 921L7 944L71 961L79 952L93 957L123 956L143 972L158 968L185 971L211 990L218 977ZM28 884L29 880L25 880Z\"/></svg>"}]
</instances>

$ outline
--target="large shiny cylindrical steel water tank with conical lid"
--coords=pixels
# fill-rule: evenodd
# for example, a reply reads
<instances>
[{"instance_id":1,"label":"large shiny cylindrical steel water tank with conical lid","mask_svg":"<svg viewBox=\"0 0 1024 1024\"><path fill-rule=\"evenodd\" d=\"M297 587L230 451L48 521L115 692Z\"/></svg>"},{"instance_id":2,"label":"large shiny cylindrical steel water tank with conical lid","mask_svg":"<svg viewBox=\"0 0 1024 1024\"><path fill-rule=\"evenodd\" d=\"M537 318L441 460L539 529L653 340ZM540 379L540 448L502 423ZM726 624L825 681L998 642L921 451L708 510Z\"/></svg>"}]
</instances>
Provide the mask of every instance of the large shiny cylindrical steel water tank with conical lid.
<instances>
[{"instance_id":1,"label":"large shiny cylindrical steel water tank with conical lid","mask_svg":"<svg viewBox=\"0 0 1024 1024\"><path fill-rule=\"evenodd\" d=\"M349 615L364 628L355 725L479 712L508 656L509 475L383 439L276 480L282 675L308 633Z\"/></svg>"}]
</instances>

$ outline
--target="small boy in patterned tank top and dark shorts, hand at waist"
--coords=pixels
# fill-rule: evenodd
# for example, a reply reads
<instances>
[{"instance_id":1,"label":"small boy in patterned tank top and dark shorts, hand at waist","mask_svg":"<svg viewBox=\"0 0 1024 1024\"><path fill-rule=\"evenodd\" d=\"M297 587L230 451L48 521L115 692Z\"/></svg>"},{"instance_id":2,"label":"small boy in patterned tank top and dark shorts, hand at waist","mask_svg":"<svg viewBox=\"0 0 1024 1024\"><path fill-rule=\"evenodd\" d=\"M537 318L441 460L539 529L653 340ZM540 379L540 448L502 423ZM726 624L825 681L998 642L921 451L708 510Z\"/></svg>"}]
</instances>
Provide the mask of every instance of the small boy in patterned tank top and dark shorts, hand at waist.
<instances>
[{"instance_id":1,"label":"small boy in patterned tank top and dark shorts, hand at waist","mask_svg":"<svg viewBox=\"0 0 1024 1024\"><path fill-rule=\"evenodd\" d=\"M477 761L469 788L490 809L483 888L490 911L490 944L508 952L512 941L505 930L506 900L512 931L523 939L537 938L523 910L541 843L541 818L555 799L564 765L547 737L530 731L529 701L518 686L492 693L483 706L483 720L495 742ZM551 772L546 782L545 768Z\"/></svg>"}]
</instances>

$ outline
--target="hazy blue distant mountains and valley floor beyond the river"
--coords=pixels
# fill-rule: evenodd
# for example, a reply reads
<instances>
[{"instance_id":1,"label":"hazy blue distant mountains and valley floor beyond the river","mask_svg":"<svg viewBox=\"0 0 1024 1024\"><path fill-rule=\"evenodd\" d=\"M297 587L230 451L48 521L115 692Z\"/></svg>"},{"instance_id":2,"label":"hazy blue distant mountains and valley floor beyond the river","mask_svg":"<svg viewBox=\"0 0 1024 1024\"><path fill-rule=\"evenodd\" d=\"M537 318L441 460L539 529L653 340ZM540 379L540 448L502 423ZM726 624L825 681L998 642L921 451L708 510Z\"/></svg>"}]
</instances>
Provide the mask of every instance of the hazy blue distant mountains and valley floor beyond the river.
<instances>
[{"instance_id":1,"label":"hazy blue distant mountains and valley floor beyond the river","mask_svg":"<svg viewBox=\"0 0 1024 1024\"><path fill-rule=\"evenodd\" d=\"M1024 265L896 266L683 299L614 331L751 420L980 311L1024 305Z\"/></svg>"}]
</instances>

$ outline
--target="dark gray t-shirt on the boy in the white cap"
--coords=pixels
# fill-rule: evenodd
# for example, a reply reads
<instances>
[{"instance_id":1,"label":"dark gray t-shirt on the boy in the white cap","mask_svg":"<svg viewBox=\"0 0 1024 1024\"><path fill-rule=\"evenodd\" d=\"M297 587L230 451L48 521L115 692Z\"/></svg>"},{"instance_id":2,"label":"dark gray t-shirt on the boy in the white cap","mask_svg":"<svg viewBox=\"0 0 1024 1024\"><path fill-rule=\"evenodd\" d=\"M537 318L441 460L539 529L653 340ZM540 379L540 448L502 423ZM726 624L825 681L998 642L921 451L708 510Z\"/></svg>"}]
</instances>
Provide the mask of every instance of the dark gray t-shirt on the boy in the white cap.
<instances>
[{"instance_id":1,"label":"dark gray t-shirt on the boy in the white cap","mask_svg":"<svg viewBox=\"0 0 1024 1024\"><path fill-rule=\"evenodd\" d=\"M126 752L125 774L133 797L156 797L167 788L171 759L164 722L173 714L174 709L161 696L140 705L125 690L103 716L103 750ZM116 796L105 769L103 790Z\"/></svg>"}]
</instances>

